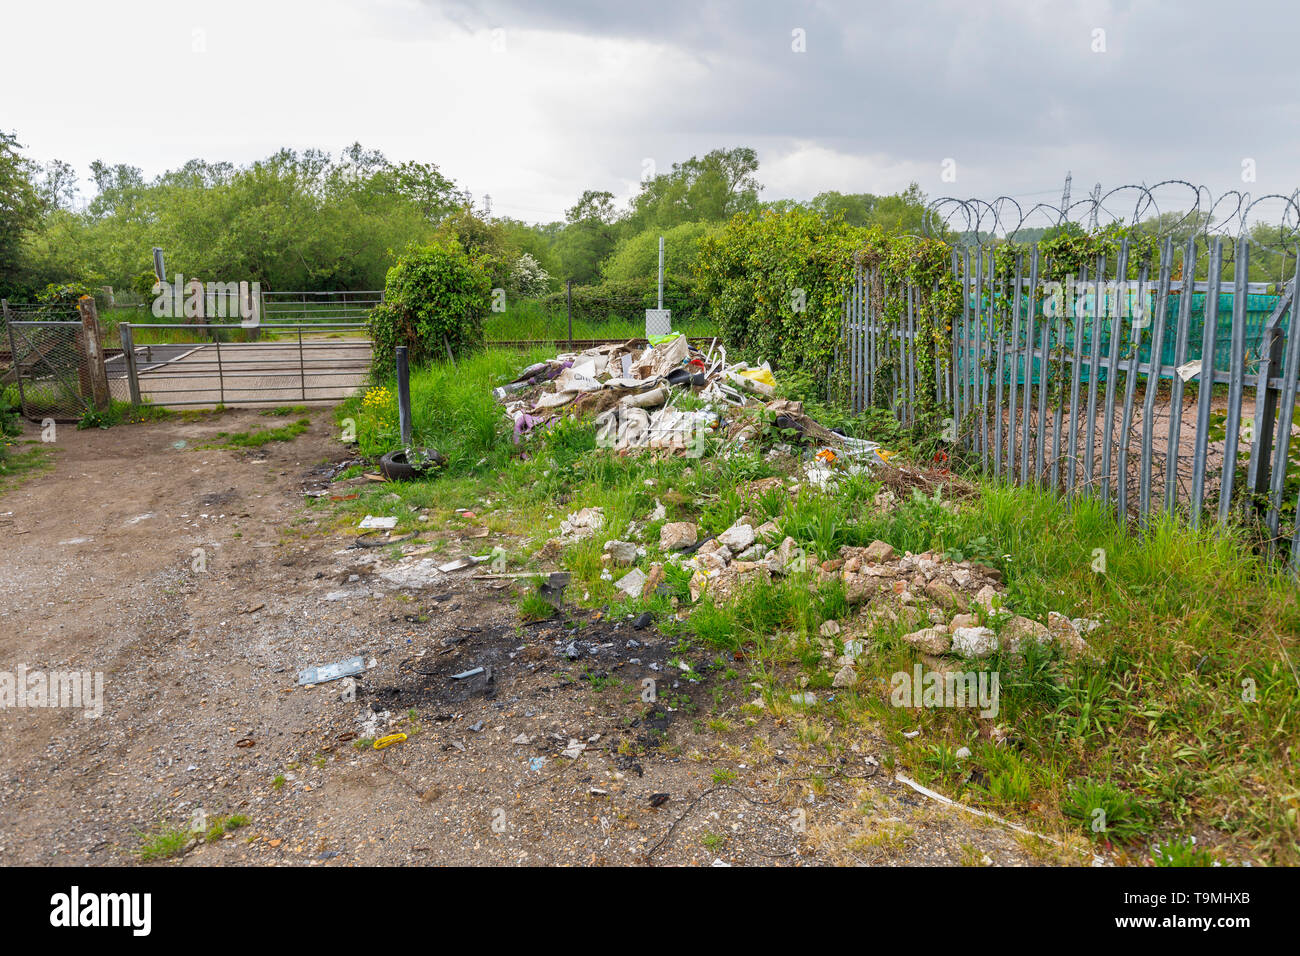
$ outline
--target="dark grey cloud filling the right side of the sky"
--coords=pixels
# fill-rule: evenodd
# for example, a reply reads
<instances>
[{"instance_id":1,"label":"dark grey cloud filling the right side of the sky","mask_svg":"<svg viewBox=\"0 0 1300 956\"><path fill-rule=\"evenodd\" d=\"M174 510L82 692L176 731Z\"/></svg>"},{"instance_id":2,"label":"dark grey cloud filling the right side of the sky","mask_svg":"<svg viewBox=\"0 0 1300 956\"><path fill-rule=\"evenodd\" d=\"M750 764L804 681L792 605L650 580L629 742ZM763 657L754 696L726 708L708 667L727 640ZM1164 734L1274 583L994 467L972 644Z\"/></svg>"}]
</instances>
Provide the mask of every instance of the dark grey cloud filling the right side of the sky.
<instances>
[{"instance_id":1,"label":"dark grey cloud filling the right side of the sky","mask_svg":"<svg viewBox=\"0 0 1300 956\"><path fill-rule=\"evenodd\" d=\"M1169 177L1216 191L1300 183L1290 3L550 3L439 5L468 27L660 43L705 79L664 75L621 125L692 148L793 140L883 153L1022 191ZM790 31L807 52L790 51ZM1092 52L1093 30L1106 52ZM632 148L629 152L636 153ZM1260 182L1243 186L1243 157ZM853 183L838 183L853 190ZM1261 189L1262 187L1262 189ZM956 191L961 193L957 187Z\"/></svg>"}]
</instances>

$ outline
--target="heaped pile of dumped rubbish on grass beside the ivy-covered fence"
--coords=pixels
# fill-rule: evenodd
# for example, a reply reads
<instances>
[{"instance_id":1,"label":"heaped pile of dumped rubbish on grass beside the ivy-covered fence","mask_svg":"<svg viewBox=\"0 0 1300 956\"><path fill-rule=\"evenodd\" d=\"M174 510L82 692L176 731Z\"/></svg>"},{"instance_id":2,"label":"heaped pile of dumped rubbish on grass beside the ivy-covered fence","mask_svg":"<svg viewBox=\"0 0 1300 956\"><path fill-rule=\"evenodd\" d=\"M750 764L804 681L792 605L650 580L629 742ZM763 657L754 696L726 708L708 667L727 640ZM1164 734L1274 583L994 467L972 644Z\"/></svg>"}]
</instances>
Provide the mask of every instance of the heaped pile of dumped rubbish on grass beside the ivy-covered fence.
<instances>
[{"instance_id":1,"label":"heaped pile of dumped rubbish on grass beside the ivy-covered fence","mask_svg":"<svg viewBox=\"0 0 1300 956\"><path fill-rule=\"evenodd\" d=\"M776 398L768 363L728 362L714 339L707 350L677 332L637 341L611 342L538 362L493 392L506 406L515 444L562 415L594 414L597 441L614 449L663 449L698 457L714 436L737 444L759 436L755 415L766 408L783 434L814 450L815 468L827 479L831 466L862 468L888 460L872 441L822 427L801 402ZM682 401L684 397L690 401Z\"/></svg>"}]
</instances>

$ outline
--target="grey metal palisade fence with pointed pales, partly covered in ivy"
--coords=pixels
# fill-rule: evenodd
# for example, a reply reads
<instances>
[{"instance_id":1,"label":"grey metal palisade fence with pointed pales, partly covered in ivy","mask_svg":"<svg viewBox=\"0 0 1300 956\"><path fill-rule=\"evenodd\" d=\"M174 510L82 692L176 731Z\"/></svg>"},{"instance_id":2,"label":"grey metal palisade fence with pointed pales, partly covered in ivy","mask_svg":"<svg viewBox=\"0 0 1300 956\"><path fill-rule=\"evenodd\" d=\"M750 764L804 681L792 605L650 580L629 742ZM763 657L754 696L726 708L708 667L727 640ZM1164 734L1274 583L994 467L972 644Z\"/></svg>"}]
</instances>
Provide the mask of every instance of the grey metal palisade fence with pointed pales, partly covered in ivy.
<instances>
[{"instance_id":1,"label":"grey metal palisade fence with pointed pales, partly covered in ivy","mask_svg":"<svg viewBox=\"0 0 1300 956\"><path fill-rule=\"evenodd\" d=\"M1282 287L1249 282L1249 259L1245 238L1193 237L1130 263L1123 239L1113 261L1045 282L1037 246L956 250L959 315L928 365L926 290L862 269L844 300L848 401L914 424L918 376L932 368L944 437L987 473L1097 496L1139 522L1249 520L1300 567L1300 256Z\"/></svg>"}]
</instances>

